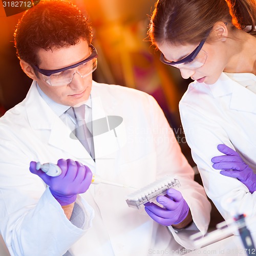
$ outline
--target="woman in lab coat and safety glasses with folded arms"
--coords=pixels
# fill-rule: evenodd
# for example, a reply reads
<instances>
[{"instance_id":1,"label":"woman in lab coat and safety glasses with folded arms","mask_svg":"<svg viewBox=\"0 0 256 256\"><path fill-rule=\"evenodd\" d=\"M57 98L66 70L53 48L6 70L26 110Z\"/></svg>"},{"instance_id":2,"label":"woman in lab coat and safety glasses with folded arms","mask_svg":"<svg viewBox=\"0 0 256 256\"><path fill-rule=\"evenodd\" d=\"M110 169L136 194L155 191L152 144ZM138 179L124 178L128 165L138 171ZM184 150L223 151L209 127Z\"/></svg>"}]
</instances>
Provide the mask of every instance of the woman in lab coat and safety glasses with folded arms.
<instances>
[{"instance_id":1,"label":"woman in lab coat and safety glasses with folded arms","mask_svg":"<svg viewBox=\"0 0 256 256\"><path fill-rule=\"evenodd\" d=\"M148 31L161 61L195 80L180 101L181 120L206 194L225 219L256 215L255 25L255 0L158 0Z\"/></svg>"}]
</instances>

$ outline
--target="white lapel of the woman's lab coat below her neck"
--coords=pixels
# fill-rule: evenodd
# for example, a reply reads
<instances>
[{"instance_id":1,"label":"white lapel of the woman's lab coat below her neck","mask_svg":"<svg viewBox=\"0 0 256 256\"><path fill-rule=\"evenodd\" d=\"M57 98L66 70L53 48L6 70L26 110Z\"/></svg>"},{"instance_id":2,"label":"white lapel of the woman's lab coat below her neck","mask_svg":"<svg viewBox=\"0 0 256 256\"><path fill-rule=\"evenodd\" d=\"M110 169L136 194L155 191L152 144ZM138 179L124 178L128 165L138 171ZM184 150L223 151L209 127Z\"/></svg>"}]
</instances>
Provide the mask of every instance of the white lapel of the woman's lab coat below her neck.
<instances>
[{"instance_id":1,"label":"white lapel of the woman's lab coat below her neck","mask_svg":"<svg viewBox=\"0 0 256 256\"><path fill-rule=\"evenodd\" d=\"M256 94L222 73L215 84L210 85L212 95L221 97L231 94L229 108L256 113Z\"/></svg>"}]
</instances>

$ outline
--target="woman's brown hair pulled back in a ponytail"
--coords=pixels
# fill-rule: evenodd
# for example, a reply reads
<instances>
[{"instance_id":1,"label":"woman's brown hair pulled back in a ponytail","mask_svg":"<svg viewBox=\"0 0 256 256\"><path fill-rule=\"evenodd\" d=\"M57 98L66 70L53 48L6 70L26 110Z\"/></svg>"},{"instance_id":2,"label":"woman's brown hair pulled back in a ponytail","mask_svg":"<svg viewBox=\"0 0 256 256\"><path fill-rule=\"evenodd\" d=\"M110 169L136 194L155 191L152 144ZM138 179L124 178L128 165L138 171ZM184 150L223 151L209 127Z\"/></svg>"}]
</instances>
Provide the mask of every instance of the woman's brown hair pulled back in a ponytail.
<instances>
[{"instance_id":1,"label":"woman's brown hair pulled back in a ponytail","mask_svg":"<svg viewBox=\"0 0 256 256\"><path fill-rule=\"evenodd\" d=\"M218 21L244 29L256 25L255 0L158 0L148 35L153 44L198 44Z\"/></svg>"}]
</instances>

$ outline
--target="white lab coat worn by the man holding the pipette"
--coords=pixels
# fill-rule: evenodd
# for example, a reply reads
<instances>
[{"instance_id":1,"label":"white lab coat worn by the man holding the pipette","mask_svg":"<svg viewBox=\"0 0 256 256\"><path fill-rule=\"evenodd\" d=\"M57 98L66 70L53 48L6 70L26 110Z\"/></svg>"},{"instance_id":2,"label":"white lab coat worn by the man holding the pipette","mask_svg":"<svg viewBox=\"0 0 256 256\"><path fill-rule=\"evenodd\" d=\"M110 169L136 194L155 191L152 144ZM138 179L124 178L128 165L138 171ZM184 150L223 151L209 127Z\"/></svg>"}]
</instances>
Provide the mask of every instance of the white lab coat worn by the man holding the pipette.
<instances>
[{"instance_id":1,"label":"white lab coat worn by the man holding the pipette","mask_svg":"<svg viewBox=\"0 0 256 256\"><path fill-rule=\"evenodd\" d=\"M0 119L0 229L12 255L147 255L149 250L191 247L184 230L170 231L127 206L132 188L91 185L76 200L82 228L71 224L30 161L77 160L104 179L142 187L165 174L178 175L180 191L197 227L205 232L210 205L172 130L152 96L93 82L92 118L121 116L122 124L94 137L94 162L40 97L33 82L26 99ZM115 136L117 135L117 137ZM94 218L93 218L94 216ZM172 232L172 234L170 233ZM153 251L154 252L154 251Z\"/></svg>"}]
</instances>

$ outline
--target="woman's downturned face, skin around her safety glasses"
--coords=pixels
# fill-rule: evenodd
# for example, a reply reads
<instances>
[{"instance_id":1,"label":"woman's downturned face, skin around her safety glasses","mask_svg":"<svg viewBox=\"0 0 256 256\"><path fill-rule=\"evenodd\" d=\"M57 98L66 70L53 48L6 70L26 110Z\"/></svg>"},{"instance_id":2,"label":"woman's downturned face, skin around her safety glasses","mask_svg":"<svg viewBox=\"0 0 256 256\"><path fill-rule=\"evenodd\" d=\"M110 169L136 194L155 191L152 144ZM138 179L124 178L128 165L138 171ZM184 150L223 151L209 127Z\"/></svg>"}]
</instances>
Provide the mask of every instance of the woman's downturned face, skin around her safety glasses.
<instances>
[{"instance_id":1,"label":"woman's downturned face, skin around her safety glasses","mask_svg":"<svg viewBox=\"0 0 256 256\"><path fill-rule=\"evenodd\" d=\"M198 45L174 46L167 42L157 45L165 59L169 62L178 61L186 57L193 52L197 46ZM189 68L186 65L181 65L178 67L181 76L184 79L191 77L191 79L197 80L198 82L213 84L218 80L227 65L227 55L224 44L222 44L221 41L211 42L210 44L205 42L200 51L204 51L207 55L203 65L194 69Z\"/></svg>"}]
</instances>

